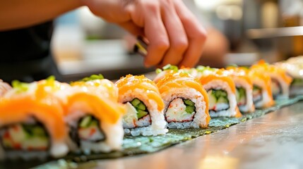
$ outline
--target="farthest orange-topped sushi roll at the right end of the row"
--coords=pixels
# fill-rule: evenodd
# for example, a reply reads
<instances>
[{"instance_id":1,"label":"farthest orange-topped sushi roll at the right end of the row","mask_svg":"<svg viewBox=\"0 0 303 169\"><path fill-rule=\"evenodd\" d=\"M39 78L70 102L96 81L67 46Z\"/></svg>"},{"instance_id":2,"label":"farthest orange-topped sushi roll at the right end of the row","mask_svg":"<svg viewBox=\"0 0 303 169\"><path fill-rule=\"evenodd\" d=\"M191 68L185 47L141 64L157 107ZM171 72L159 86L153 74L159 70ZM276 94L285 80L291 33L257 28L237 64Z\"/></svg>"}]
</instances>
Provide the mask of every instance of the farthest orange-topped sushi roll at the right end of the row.
<instances>
[{"instance_id":1,"label":"farthest orange-topped sushi roll at the right end of the row","mask_svg":"<svg viewBox=\"0 0 303 169\"><path fill-rule=\"evenodd\" d=\"M261 60L251 66L252 70L266 73L271 77L271 92L273 99L287 99L290 96L290 84L292 77L286 74L285 70L278 66L270 65Z\"/></svg>"}]
</instances>

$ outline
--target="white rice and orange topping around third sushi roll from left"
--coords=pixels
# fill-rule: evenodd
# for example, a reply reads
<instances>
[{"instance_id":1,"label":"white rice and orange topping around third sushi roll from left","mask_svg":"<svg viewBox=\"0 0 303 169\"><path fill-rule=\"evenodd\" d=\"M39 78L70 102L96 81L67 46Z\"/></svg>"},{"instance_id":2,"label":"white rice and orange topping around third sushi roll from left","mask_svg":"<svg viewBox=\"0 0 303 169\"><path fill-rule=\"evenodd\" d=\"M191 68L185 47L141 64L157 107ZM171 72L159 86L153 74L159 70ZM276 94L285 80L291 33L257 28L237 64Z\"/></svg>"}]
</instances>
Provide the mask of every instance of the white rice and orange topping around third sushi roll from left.
<instances>
[{"instance_id":1,"label":"white rice and orange topping around third sushi roll from left","mask_svg":"<svg viewBox=\"0 0 303 169\"><path fill-rule=\"evenodd\" d=\"M148 109L148 113L150 115L149 118L143 118L142 120L151 120L151 125L149 126L140 126L140 124L146 124L146 123L136 123L136 127L133 126L133 128L125 128L124 132L125 134L131 134L133 136L137 135L158 135L158 134L165 134L168 132L166 128L166 121L163 115L163 110L158 111L158 104L156 101L153 99L149 99L147 94L143 89L133 89L129 90L126 92L124 95L119 96L119 102L120 103L126 103L129 101L132 101L133 99L138 98L139 100L143 101L145 104L146 108ZM127 115L124 115L124 118ZM124 121L124 126L132 126L130 123L125 123L126 120ZM129 120L128 120L129 121Z\"/></svg>"}]
</instances>

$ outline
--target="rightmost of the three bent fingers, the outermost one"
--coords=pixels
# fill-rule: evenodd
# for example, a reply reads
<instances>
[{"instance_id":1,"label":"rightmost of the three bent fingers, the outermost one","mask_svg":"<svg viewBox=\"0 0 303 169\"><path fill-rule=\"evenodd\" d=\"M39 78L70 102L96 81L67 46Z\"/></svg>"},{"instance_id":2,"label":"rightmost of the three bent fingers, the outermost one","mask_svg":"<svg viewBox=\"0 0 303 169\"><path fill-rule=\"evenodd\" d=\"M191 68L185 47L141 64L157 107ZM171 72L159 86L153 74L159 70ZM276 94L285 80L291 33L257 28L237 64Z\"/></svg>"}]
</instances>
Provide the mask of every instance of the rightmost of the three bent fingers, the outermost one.
<instances>
[{"instance_id":1,"label":"rightmost of the three bent fingers, the outermost one","mask_svg":"<svg viewBox=\"0 0 303 169\"><path fill-rule=\"evenodd\" d=\"M174 1L174 6L189 40L189 46L179 66L193 67L198 63L202 54L203 45L206 42L206 30L198 23L198 20L184 6L182 1Z\"/></svg>"}]
</instances>

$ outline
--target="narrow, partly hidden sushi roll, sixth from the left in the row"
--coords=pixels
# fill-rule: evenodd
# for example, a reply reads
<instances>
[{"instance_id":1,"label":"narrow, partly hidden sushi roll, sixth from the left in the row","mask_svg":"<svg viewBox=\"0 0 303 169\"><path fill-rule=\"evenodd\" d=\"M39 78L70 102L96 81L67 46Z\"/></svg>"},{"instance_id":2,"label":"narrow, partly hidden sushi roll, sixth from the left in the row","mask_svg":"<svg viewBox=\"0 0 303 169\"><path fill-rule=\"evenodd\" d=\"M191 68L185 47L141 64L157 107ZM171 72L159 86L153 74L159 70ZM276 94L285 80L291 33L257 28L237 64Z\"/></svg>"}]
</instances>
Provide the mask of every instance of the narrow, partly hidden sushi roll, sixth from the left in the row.
<instances>
[{"instance_id":1,"label":"narrow, partly hidden sushi roll, sixth from the left in the row","mask_svg":"<svg viewBox=\"0 0 303 169\"><path fill-rule=\"evenodd\" d=\"M236 85L236 99L239 110L243 113L255 111L253 101L253 83L249 79L246 68L228 67L230 77Z\"/></svg>"}]
</instances>

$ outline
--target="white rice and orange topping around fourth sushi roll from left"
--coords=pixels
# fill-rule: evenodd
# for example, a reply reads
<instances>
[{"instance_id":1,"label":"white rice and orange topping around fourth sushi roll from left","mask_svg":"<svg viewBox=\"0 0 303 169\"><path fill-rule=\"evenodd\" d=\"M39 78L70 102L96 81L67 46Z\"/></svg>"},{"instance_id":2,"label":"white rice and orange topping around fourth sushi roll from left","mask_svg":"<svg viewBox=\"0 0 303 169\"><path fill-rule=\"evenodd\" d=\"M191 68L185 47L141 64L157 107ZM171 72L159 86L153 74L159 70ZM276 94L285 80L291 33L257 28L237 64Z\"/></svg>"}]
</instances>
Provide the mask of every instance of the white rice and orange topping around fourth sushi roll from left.
<instances>
[{"instance_id":1,"label":"white rice and orange topping around fourth sushi roll from left","mask_svg":"<svg viewBox=\"0 0 303 169\"><path fill-rule=\"evenodd\" d=\"M206 118L208 115L206 114L206 102L204 101L203 95L196 91L196 89L192 88L172 88L169 89L167 92L163 92L161 94L162 99L165 103L165 109L170 105L170 101L182 98L182 99L189 99L194 102L196 106L196 114L194 115L194 119L191 122L185 123L178 123L178 122L171 122L167 125L169 128L189 128L189 127L205 127L207 126Z\"/></svg>"}]
</instances>

